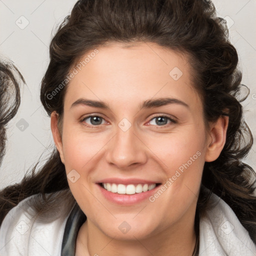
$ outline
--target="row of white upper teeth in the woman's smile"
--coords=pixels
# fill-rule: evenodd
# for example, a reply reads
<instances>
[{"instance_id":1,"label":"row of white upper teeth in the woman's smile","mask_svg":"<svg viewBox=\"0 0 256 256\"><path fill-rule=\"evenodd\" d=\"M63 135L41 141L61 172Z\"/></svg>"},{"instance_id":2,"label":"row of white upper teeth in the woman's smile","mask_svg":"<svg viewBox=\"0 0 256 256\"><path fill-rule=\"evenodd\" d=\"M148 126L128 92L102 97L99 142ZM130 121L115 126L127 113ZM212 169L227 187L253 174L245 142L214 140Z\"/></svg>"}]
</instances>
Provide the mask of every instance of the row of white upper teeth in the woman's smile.
<instances>
[{"instance_id":1,"label":"row of white upper teeth in the woman's smile","mask_svg":"<svg viewBox=\"0 0 256 256\"><path fill-rule=\"evenodd\" d=\"M156 184L115 184L115 183L103 183L103 187L112 193L118 194L135 194L146 192L155 188Z\"/></svg>"}]
</instances>

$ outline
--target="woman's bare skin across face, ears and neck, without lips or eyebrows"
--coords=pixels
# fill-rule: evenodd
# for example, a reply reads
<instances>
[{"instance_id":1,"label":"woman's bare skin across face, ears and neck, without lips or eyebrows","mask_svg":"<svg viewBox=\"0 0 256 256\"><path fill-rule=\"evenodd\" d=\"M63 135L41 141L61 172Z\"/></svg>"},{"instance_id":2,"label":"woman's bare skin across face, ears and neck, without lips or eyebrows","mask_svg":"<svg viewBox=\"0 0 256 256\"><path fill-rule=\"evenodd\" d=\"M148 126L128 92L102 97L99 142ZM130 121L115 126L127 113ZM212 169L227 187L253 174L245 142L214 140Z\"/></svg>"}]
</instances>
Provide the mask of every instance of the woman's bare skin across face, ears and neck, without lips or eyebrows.
<instances>
[{"instance_id":1,"label":"woman's bare skin across face, ears and neck, without lips or eyebrows","mask_svg":"<svg viewBox=\"0 0 256 256\"><path fill-rule=\"evenodd\" d=\"M191 255L203 165L219 156L228 118L219 117L206 130L185 54L144 42L130 47L108 43L98 50L68 84L61 132L58 115L51 114L53 139L66 173L75 169L80 175L74 183L68 179L70 190L87 216L75 255ZM173 67L183 73L176 81L169 75ZM81 97L104 101L110 109L71 107ZM139 110L144 100L162 97L182 100L188 107L172 103ZM103 117L101 124L91 127L91 119L85 118L89 114ZM160 125L157 115L177 122L166 119ZM131 124L127 131L118 126L123 118ZM164 184L197 151L200 156L154 202L120 206L95 184L108 177ZM118 228L123 221L131 227L125 234Z\"/></svg>"}]
</instances>

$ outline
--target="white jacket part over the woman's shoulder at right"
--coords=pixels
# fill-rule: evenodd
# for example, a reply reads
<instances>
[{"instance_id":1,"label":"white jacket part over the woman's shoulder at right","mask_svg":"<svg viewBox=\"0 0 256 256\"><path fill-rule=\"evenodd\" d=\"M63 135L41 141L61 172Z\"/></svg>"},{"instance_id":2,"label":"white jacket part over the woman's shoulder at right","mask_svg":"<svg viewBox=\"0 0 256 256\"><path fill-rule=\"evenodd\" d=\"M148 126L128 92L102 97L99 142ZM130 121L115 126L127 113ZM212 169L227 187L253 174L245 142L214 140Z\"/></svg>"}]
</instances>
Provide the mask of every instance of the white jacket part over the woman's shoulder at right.
<instances>
[{"instance_id":1,"label":"white jacket part over the woman's shoulder at right","mask_svg":"<svg viewBox=\"0 0 256 256\"><path fill-rule=\"evenodd\" d=\"M211 194L199 224L199 253L207 255L256 255L256 246L229 205Z\"/></svg>"}]
</instances>

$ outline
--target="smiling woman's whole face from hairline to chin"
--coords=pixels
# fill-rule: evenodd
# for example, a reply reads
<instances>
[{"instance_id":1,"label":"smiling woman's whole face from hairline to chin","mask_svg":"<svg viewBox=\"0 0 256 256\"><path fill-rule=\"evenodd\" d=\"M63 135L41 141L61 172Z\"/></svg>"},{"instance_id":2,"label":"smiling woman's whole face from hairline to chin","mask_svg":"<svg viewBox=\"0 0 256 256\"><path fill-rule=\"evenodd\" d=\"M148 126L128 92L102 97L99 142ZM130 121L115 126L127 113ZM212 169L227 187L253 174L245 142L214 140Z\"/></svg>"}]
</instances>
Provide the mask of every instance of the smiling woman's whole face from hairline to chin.
<instances>
[{"instance_id":1,"label":"smiling woman's whole face from hairline to chin","mask_svg":"<svg viewBox=\"0 0 256 256\"><path fill-rule=\"evenodd\" d=\"M71 192L88 224L108 236L180 229L194 219L212 140L188 59L154 43L94 52L76 66L62 141L54 138Z\"/></svg>"}]
</instances>

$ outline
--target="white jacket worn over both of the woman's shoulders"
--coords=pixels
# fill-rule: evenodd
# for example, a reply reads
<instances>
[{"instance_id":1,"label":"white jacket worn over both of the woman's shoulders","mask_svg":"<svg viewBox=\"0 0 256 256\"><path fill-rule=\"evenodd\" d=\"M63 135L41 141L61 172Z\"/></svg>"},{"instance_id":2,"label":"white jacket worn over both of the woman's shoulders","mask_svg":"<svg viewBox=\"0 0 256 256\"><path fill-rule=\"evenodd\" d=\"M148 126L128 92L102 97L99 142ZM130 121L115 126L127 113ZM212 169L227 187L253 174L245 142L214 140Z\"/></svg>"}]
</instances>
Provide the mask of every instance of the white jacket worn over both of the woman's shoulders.
<instances>
[{"instance_id":1,"label":"white jacket worn over both of the woman's shoulders","mask_svg":"<svg viewBox=\"0 0 256 256\"><path fill-rule=\"evenodd\" d=\"M59 215L43 223L26 212L29 210L27 202L33 196L19 202L4 218L0 227L0 256L74 256L61 254L64 229L71 211L66 213L66 205L61 203ZM256 245L232 209L215 194L210 201L216 205L200 219L199 256L255 256ZM77 222L70 223L77 225ZM70 237L76 237L77 231L69 228Z\"/></svg>"}]
</instances>

